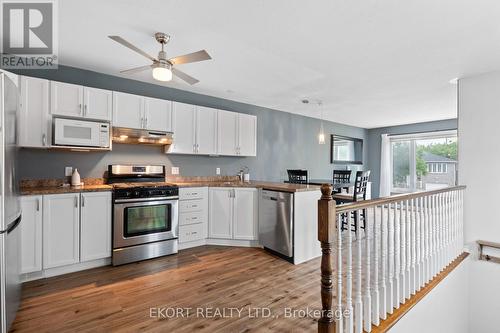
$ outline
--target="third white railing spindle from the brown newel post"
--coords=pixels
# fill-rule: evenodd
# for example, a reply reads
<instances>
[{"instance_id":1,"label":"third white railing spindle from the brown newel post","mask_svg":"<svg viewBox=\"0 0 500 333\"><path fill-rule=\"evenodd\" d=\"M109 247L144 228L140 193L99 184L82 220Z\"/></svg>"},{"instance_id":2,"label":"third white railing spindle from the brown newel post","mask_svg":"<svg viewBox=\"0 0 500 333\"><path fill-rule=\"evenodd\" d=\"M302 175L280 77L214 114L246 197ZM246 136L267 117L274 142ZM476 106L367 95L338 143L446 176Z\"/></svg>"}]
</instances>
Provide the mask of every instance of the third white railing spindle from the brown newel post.
<instances>
[{"instance_id":1,"label":"third white railing spindle from the brown newel post","mask_svg":"<svg viewBox=\"0 0 500 333\"><path fill-rule=\"evenodd\" d=\"M374 221L369 218L369 213L370 211L366 209L366 215L365 215L365 292L363 295L363 321L364 321L364 329L366 332L371 332L372 330L372 288L370 285L370 257L371 257L371 242L372 242L372 229L373 229L373 223Z\"/></svg>"}]
</instances>

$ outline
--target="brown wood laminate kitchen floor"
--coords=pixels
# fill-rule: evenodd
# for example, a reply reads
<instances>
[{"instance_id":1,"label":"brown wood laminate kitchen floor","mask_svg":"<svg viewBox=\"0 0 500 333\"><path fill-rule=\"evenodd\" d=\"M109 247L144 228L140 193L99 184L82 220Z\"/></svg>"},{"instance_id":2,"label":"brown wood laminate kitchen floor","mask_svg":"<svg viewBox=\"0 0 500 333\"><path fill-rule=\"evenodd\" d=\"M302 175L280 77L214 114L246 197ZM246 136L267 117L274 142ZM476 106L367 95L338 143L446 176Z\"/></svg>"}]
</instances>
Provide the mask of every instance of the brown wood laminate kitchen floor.
<instances>
[{"instance_id":1,"label":"brown wood laminate kitchen floor","mask_svg":"<svg viewBox=\"0 0 500 333\"><path fill-rule=\"evenodd\" d=\"M257 248L197 247L25 283L11 331L315 332L314 314L285 312L321 308L319 269L319 258L294 266ZM151 317L158 308L189 317Z\"/></svg>"}]
</instances>

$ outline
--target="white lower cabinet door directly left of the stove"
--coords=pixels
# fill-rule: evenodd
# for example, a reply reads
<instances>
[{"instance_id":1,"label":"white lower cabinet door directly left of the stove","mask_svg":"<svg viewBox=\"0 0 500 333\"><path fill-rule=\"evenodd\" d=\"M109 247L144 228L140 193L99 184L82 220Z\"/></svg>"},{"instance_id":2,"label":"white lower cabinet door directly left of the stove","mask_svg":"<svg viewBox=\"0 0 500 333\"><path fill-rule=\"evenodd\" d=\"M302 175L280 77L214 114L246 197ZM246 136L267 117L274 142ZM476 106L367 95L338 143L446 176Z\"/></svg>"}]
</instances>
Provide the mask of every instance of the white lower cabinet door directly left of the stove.
<instances>
[{"instance_id":1,"label":"white lower cabinet door directly left of the stove","mask_svg":"<svg viewBox=\"0 0 500 333\"><path fill-rule=\"evenodd\" d=\"M111 192L81 194L80 261L111 256Z\"/></svg>"}]
</instances>

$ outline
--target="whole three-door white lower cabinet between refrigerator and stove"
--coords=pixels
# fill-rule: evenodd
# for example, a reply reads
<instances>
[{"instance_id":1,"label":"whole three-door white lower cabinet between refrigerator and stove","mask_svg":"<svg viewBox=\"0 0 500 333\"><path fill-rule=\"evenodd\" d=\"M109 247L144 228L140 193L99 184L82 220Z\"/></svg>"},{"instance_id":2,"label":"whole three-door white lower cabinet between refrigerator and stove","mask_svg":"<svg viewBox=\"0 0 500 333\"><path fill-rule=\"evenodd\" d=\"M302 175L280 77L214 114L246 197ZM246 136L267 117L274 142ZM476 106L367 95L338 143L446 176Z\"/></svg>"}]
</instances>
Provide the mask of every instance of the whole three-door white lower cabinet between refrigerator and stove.
<instances>
[{"instance_id":1,"label":"whole three-door white lower cabinet between refrigerator and stove","mask_svg":"<svg viewBox=\"0 0 500 333\"><path fill-rule=\"evenodd\" d=\"M21 273L111 256L111 192L21 197Z\"/></svg>"}]
</instances>

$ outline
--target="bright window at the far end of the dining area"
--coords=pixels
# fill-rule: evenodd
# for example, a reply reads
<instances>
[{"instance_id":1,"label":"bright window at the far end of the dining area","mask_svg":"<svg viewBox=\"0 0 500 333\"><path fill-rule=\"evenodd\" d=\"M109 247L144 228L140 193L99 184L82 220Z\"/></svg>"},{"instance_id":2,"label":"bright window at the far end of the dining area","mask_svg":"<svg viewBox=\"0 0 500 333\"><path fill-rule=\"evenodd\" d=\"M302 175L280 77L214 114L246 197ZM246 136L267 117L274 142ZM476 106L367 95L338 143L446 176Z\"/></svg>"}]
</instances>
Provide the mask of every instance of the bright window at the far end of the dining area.
<instances>
[{"instance_id":1,"label":"bright window at the far end of the dining area","mask_svg":"<svg viewBox=\"0 0 500 333\"><path fill-rule=\"evenodd\" d=\"M456 185L456 131L395 135L391 144L391 192Z\"/></svg>"}]
</instances>

